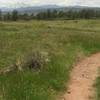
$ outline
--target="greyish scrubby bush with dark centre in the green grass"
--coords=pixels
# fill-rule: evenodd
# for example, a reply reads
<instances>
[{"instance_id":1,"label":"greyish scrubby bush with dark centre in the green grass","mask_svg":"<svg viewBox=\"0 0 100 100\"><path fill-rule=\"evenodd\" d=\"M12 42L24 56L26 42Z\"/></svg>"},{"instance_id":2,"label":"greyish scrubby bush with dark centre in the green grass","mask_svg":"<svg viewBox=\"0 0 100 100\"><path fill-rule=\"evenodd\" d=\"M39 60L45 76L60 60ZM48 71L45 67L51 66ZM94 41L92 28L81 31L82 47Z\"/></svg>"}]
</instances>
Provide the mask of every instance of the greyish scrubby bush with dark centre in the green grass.
<instances>
[{"instance_id":1,"label":"greyish scrubby bush with dark centre in the green grass","mask_svg":"<svg viewBox=\"0 0 100 100\"><path fill-rule=\"evenodd\" d=\"M40 70L49 61L48 53L46 52L34 52L28 55L26 58L19 57L16 61L16 68L19 71L26 69L29 70Z\"/></svg>"}]
</instances>

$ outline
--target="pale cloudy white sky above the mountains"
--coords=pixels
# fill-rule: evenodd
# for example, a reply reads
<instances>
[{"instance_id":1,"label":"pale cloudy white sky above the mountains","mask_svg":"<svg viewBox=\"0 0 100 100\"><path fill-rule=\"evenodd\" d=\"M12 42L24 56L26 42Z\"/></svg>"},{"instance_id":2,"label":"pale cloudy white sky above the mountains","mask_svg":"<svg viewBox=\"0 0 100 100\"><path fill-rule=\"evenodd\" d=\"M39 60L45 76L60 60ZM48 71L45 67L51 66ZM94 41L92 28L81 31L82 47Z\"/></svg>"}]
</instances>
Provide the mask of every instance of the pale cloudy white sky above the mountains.
<instances>
[{"instance_id":1,"label":"pale cloudy white sky above the mountains","mask_svg":"<svg viewBox=\"0 0 100 100\"><path fill-rule=\"evenodd\" d=\"M100 0L0 0L0 7L20 7L39 5L61 5L61 6L97 6Z\"/></svg>"}]
</instances>

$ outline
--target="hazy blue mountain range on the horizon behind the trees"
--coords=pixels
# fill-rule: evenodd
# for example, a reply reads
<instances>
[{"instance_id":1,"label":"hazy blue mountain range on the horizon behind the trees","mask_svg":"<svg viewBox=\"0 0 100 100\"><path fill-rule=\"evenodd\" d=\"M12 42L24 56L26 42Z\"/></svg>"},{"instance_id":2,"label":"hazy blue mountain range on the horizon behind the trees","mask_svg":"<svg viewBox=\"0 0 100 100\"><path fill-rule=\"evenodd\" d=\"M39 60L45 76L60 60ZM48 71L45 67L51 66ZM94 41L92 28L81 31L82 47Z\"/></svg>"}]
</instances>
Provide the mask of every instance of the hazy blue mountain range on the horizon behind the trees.
<instances>
[{"instance_id":1,"label":"hazy blue mountain range on the horizon behind the trees","mask_svg":"<svg viewBox=\"0 0 100 100\"><path fill-rule=\"evenodd\" d=\"M95 10L100 10L99 7L87 7L87 6L58 6L58 5L43 5L43 6L31 6L31 7L20 7L20 8L0 8L2 12L12 12L13 10L17 10L19 13L38 13L41 11L46 11L47 9L51 10L59 10L59 11L68 11L68 10L73 10L73 11L79 11L81 9L95 9Z\"/></svg>"}]
</instances>

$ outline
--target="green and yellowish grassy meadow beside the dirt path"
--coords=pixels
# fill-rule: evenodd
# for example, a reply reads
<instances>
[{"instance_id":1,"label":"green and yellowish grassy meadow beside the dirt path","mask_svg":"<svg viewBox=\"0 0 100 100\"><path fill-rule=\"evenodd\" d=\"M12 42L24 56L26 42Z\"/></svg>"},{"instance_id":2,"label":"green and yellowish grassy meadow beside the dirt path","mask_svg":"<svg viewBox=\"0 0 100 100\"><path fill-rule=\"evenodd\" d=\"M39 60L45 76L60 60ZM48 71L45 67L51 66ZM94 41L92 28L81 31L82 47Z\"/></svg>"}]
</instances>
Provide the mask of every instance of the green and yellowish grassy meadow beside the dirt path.
<instances>
[{"instance_id":1,"label":"green and yellowish grassy meadow beside the dirt path","mask_svg":"<svg viewBox=\"0 0 100 100\"><path fill-rule=\"evenodd\" d=\"M72 65L100 51L100 20L0 22L1 69L34 51L48 54L48 64L38 72L1 75L0 100L56 100Z\"/></svg>"}]
</instances>

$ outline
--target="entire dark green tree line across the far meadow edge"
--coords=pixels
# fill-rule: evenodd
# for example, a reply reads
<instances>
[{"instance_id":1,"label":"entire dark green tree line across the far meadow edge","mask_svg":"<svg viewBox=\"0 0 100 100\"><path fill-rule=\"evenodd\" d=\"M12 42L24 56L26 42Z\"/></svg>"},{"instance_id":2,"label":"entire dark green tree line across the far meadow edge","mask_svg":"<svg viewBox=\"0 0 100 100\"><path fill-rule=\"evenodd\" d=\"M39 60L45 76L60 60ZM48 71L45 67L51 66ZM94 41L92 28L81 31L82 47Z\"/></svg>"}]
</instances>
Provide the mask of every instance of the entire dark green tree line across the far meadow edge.
<instances>
[{"instance_id":1,"label":"entire dark green tree line across the far meadow edge","mask_svg":"<svg viewBox=\"0 0 100 100\"><path fill-rule=\"evenodd\" d=\"M0 21L17 21L17 20L53 20L53 19L97 19L100 18L100 10L94 9L82 9L79 11L57 11L50 10L39 13L23 13L20 14L17 10L11 13L3 14L0 10Z\"/></svg>"}]
</instances>

